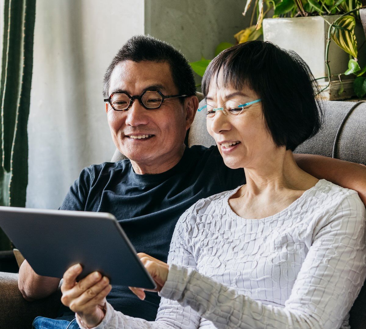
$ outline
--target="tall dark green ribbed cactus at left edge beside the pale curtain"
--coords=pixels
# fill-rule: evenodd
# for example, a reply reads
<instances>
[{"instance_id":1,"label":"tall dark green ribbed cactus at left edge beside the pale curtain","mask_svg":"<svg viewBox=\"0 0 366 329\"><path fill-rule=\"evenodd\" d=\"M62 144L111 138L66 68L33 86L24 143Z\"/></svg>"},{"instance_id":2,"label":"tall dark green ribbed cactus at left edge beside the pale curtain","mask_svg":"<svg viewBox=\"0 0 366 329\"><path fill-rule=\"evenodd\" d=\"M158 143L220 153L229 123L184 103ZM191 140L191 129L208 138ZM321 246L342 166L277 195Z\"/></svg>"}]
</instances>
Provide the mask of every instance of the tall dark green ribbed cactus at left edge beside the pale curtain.
<instances>
[{"instance_id":1,"label":"tall dark green ribbed cactus at left edge beside the pale curtain","mask_svg":"<svg viewBox=\"0 0 366 329\"><path fill-rule=\"evenodd\" d=\"M0 206L25 207L36 0L4 0L3 12ZM10 248L10 241L1 231L0 250Z\"/></svg>"}]
</instances>

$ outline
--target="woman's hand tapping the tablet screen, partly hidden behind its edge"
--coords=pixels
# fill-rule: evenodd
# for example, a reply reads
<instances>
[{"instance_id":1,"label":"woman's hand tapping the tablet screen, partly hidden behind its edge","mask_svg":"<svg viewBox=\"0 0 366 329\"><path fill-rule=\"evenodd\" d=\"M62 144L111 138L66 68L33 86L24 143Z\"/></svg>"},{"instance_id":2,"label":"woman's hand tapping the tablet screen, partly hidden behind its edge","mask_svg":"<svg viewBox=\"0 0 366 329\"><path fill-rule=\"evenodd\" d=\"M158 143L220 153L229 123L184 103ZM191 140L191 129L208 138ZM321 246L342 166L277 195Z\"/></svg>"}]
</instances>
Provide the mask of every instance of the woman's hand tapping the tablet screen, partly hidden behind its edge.
<instances>
[{"instance_id":1,"label":"woman's hand tapping the tablet screen, partly hidden behind its edge","mask_svg":"<svg viewBox=\"0 0 366 329\"><path fill-rule=\"evenodd\" d=\"M160 291L163 288L165 281L168 278L169 265L167 263L162 262L152 256L146 255L143 252L139 252L137 254L139 256L142 264L145 266L146 270L150 273L152 278L156 283L156 289L143 289L143 288L135 288L128 287L131 291L139 297L139 299L145 299L145 290L146 291Z\"/></svg>"}]
</instances>

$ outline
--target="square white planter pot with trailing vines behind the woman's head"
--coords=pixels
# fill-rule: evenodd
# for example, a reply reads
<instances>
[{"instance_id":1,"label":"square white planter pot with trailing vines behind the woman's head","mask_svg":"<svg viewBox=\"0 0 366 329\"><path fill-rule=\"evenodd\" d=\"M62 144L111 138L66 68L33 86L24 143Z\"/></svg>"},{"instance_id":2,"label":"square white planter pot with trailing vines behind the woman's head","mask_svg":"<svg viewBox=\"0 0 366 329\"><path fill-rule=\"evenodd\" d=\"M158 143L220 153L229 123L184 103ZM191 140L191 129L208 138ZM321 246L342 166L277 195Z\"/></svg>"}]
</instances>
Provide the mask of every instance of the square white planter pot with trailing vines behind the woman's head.
<instances>
[{"instance_id":1,"label":"square white planter pot with trailing vines behind the woman's head","mask_svg":"<svg viewBox=\"0 0 366 329\"><path fill-rule=\"evenodd\" d=\"M281 48L295 51L309 65L315 78L326 77L328 70L325 65L325 48L329 29L326 21L333 23L339 16L266 18L263 20L264 41L270 41ZM356 25L355 33L358 47L360 47L365 40L361 24ZM358 58L366 60L366 47L362 47ZM333 77L329 88L323 93L324 99L345 99L354 95L352 87L354 75L341 76L344 92L338 95L341 86L338 75L347 70L349 59L349 55L334 41L330 42L328 60ZM365 60L360 60L361 67L365 65ZM328 78L319 79L318 82L321 86L325 86L328 84Z\"/></svg>"}]
</instances>

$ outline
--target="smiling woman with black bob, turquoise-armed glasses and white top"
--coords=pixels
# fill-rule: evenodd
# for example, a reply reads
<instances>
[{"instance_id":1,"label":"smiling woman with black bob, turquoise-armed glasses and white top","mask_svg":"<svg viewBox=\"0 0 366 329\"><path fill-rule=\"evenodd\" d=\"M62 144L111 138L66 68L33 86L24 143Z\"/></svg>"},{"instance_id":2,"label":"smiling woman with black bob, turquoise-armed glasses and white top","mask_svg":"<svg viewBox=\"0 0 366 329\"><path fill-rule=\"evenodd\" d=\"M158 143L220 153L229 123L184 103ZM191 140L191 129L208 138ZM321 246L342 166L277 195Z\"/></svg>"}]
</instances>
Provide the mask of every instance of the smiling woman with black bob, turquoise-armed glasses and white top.
<instances>
[{"instance_id":1,"label":"smiling woman with black bob, turquoise-armed glasses and white top","mask_svg":"<svg viewBox=\"0 0 366 329\"><path fill-rule=\"evenodd\" d=\"M221 52L202 86L207 129L225 164L244 168L246 184L182 215L169 265L139 254L163 297L155 322L113 310L104 278L90 296L64 298L79 326L348 328L366 277L365 207L355 191L294 161L322 117L309 67L251 41Z\"/></svg>"}]
</instances>

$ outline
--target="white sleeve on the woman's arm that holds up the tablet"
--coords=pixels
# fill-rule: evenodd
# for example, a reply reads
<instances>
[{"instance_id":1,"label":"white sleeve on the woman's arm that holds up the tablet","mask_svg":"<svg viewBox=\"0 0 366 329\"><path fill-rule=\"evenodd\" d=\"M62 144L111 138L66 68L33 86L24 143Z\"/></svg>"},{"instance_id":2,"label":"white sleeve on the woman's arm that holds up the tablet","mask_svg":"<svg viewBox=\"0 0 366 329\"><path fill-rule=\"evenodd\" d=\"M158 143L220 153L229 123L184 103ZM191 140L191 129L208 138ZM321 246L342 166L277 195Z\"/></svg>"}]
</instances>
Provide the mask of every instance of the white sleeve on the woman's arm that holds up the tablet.
<instances>
[{"instance_id":1,"label":"white sleeve on the woman's arm that holds up the tablet","mask_svg":"<svg viewBox=\"0 0 366 329\"><path fill-rule=\"evenodd\" d=\"M195 269L197 265L193 255L187 248L187 240L189 239L187 239L187 232L189 230L188 222L192 215L191 212L192 207L184 212L179 218L173 233L168 255L168 263L178 264L187 269ZM84 327L79 322L78 317L76 317L76 321L78 322L79 327L83 329ZM200 321L201 317L196 311L192 310L191 307L182 306L174 300L163 297L161 298L155 321L147 321L145 319L124 315L123 313L114 310L113 307L107 303L107 311L104 319L93 329L192 329L198 328Z\"/></svg>"}]
</instances>

